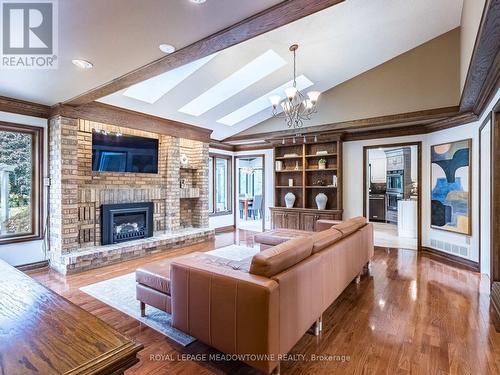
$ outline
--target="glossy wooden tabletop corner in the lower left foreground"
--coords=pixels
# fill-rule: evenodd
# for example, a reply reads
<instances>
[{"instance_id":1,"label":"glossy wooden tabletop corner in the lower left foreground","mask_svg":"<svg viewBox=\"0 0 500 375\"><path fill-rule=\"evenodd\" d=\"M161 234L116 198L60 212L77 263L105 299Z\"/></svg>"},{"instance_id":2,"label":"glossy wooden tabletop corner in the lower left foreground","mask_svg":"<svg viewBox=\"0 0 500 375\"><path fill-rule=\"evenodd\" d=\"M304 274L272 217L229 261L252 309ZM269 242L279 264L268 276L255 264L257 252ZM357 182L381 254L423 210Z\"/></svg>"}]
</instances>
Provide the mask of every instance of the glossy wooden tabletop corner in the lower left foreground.
<instances>
[{"instance_id":1,"label":"glossy wooden tabletop corner in the lower left foreground","mask_svg":"<svg viewBox=\"0 0 500 375\"><path fill-rule=\"evenodd\" d=\"M0 260L0 373L122 374L143 346Z\"/></svg>"}]
</instances>

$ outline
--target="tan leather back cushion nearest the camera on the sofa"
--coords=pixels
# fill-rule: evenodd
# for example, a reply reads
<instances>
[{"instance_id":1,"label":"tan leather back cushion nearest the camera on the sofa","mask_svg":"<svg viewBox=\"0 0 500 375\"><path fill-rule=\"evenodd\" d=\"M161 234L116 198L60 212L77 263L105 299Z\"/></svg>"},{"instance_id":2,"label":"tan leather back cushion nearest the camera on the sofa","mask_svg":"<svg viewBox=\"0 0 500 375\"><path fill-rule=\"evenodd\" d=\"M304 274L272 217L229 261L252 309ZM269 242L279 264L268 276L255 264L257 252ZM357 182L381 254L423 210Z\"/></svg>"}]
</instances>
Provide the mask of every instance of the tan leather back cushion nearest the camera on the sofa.
<instances>
[{"instance_id":1,"label":"tan leather back cushion nearest the camera on the sofa","mask_svg":"<svg viewBox=\"0 0 500 375\"><path fill-rule=\"evenodd\" d=\"M304 260L312 253L311 237L295 238L254 255L250 273L271 277Z\"/></svg>"}]
</instances>

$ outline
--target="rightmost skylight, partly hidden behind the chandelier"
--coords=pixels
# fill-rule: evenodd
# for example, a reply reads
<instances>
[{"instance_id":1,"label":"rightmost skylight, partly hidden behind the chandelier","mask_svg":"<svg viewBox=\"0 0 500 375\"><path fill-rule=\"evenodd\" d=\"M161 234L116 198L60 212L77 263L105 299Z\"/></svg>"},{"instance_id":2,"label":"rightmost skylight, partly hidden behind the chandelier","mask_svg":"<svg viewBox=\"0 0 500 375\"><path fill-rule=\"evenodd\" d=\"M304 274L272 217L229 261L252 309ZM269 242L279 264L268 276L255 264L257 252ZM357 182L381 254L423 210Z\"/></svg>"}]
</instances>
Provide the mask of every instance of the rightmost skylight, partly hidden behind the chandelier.
<instances>
[{"instance_id":1,"label":"rightmost skylight, partly hidden behind the chandelier","mask_svg":"<svg viewBox=\"0 0 500 375\"><path fill-rule=\"evenodd\" d=\"M293 81L287 82L280 87L275 88L274 90L268 92L267 94L262 95L260 98L255 99L254 101L244 105L241 108L238 108L236 111L231 112L230 114L224 116L223 118L217 120L218 123L233 126L240 121L243 121L250 116L259 113L260 111L269 108L269 115L271 114L271 104L269 103L269 97L271 95L279 95L281 98L285 97L285 89L292 86ZM312 86L313 83L304 75L297 77L297 89L302 91L309 86Z\"/></svg>"}]
</instances>

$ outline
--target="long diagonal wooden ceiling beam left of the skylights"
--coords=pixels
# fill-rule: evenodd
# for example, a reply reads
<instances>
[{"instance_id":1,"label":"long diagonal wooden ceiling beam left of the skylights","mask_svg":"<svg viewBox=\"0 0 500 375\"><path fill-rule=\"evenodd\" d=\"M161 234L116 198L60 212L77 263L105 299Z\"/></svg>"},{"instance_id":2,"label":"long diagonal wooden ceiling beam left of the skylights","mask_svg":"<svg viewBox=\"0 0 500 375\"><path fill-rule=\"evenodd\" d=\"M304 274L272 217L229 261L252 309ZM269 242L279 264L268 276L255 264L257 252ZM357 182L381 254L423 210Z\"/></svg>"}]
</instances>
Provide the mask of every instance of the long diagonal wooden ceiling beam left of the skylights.
<instances>
[{"instance_id":1,"label":"long diagonal wooden ceiling beam left of the skylights","mask_svg":"<svg viewBox=\"0 0 500 375\"><path fill-rule=\"evenodd\" d=\"M72 106L88 104L116 91L255 38L256 36L285 26L343 1L344 0L285 0L224 30L194 42L187 47L181 48L174 53L166 55L152 63L89 90L66 101L65 104Z\"/></svg>"}]
</instances>

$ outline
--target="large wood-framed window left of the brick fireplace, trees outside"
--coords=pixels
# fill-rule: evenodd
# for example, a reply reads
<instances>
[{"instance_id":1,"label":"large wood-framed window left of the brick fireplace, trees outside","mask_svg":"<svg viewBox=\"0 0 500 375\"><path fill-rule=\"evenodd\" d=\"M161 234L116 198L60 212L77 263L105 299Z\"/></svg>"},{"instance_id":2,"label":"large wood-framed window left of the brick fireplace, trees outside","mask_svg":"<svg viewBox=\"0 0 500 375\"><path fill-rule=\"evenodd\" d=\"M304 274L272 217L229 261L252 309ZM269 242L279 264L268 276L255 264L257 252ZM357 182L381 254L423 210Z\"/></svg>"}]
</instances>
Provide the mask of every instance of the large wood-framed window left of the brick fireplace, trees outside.
<instances>
[{"instance_id":1,"label":"large wood-framed window left of the brick fireplace, trees outside","mask_svg":"<svg viewBox=\"0 0 500 375\"><path fill-rule=\"evenodd\" d=\"M42 137L0 122L0 244L41 238Z\"/></svg>"}]
</instances>

